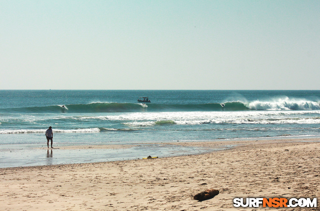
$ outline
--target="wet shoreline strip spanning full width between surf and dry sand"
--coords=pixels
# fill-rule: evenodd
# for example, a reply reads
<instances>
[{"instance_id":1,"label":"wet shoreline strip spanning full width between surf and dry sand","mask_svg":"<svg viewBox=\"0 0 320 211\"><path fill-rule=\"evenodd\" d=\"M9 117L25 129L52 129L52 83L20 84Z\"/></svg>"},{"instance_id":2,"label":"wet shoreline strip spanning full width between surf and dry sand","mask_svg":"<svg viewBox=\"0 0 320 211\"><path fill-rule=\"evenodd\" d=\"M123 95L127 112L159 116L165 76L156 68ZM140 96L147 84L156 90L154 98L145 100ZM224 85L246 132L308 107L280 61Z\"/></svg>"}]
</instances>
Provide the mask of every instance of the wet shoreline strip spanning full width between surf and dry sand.
<instances>
[{"instance_id":1,"label":"wet shoreline strip spanning full width between surf and dry sand","mask_svg":"<svg viewBox=\"0 0 320 211\"><path fill-rule=\"evenodd\" d=\"M299 137L294 141L316 140L319 137ZM274 140L274 141L272 141ZM76 163L109 162L120 160L136 160L147 156L177 157L200 155L213 151L225 150L252 141L263 143L286 142L290 138L250 138L222 140L185 140L166 142L128 142L128 143L53 143L47 148L44 143L38 144L2 144L0 168L22 166L64 165Z\"/></svg>"}]
</instances>

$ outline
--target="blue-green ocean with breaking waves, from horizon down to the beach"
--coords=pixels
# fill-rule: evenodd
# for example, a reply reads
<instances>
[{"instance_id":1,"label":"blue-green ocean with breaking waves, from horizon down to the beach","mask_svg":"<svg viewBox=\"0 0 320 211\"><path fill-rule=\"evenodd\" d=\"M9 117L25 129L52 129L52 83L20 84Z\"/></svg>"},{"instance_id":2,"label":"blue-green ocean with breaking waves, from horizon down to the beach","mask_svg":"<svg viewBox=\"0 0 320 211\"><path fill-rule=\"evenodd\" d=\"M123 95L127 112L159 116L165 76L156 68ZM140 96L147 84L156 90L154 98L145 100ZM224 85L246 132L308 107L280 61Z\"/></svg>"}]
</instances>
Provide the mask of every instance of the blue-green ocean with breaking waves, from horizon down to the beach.
<instances>
[{"instance_id":1,"label":"blue-green ocean with breaking waves, from horizon down to the beach","mask_svg":"<svg viewBox=\"0 0 320 211\"><path fill-rule=\"evenodd\" d=\"M0 167L204 153L164 143L317 137L319 123L318 90L0 90ZM53 146L139 146L51 159L38 149L49 126Z\"/></svg>"}]
</instances>

